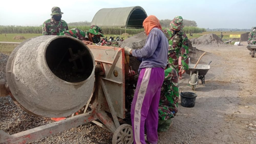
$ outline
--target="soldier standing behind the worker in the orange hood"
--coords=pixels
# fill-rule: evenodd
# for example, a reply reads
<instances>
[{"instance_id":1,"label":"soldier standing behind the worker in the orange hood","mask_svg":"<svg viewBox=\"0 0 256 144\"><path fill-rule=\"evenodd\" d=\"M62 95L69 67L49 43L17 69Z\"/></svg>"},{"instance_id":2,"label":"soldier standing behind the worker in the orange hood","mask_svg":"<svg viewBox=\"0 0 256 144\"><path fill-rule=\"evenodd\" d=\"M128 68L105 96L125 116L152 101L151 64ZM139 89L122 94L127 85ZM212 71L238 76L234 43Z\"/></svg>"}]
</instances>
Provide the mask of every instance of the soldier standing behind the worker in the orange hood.
<instances>
[{"instance_id":1,"label":"soldier standing behind the worker in the orange hood","mask_svg":"<svg viewBox=\"0 0 256 144\"><path fill-rule=\"evenodd\" d=\"M176 16L173 21L170 23L171 28L165 29L164 33L169 42L168 49L168 60L169 66L176 69L178 72L178 59L179 56L181 59L181 68L182 74L185 73L185 70L188 70L188 38L186 34L181 30L183 28L183 18L181 16Z\"/></svg>"}]
</instances>

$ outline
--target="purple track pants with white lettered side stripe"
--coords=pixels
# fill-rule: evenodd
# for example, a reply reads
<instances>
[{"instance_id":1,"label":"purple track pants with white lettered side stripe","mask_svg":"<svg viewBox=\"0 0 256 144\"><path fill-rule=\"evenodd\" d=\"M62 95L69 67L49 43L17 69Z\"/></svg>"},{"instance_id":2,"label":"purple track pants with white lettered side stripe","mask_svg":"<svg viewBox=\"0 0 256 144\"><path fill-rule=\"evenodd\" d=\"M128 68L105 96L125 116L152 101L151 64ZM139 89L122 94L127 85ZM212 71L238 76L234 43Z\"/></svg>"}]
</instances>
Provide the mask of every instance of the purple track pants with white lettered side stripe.
<instances>
[{"instance_id":1,"label":"purple track pants with white lettered side stripe","mask_svg":"<svg viewBox=\"0 0 256 144\"><path fill-rule=\"evenodd\" d=\"M133 143L135 144L146 144L144 125L147 130L147 141L157 144L157 110L163 81L163 68L141 69L131 106Z\"/></svg>"}]
</instances>

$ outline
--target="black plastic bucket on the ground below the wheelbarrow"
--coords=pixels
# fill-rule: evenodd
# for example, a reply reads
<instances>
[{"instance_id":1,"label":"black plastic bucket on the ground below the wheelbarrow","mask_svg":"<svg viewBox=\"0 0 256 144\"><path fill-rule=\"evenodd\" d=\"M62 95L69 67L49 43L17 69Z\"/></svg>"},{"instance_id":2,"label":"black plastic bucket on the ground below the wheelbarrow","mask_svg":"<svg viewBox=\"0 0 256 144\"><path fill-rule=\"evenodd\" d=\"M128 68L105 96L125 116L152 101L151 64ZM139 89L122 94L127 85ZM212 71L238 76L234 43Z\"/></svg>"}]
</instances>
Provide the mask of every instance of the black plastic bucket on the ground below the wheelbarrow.
<instances>
[{"instance_id":1,"label":"black plastic bucket on the ground below the wheelbarrow","mask_svg":"<svg viewBox=\"0 0 256 144\"><path fill-rule=\"evenodd\" d=\"M180 94L181 105L183 107L192 108L195 106L197 94L192 92L181 92Z\"/></svg>"}]
</instances>

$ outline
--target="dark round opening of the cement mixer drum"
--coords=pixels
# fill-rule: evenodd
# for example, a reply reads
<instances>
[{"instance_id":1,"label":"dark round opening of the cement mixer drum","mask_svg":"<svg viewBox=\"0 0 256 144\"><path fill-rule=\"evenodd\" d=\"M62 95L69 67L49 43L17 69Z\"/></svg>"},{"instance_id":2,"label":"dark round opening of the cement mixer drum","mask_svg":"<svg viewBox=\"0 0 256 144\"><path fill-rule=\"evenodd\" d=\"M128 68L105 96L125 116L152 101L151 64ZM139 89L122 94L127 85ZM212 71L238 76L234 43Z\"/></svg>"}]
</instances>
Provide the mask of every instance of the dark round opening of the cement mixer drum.
<instances>
[{"instance_id":1,"label":"dark round opening of the cement mixer drum","mask_svg":"<svg viewBox=\"0 0 256 144\"><path fill-rule=\"evenodd\" d=\"M52 73L67 82L82 82L93 71L93 60L88 49L68 37L51 41L45 58Z\"/></svg>"}]
</instances>

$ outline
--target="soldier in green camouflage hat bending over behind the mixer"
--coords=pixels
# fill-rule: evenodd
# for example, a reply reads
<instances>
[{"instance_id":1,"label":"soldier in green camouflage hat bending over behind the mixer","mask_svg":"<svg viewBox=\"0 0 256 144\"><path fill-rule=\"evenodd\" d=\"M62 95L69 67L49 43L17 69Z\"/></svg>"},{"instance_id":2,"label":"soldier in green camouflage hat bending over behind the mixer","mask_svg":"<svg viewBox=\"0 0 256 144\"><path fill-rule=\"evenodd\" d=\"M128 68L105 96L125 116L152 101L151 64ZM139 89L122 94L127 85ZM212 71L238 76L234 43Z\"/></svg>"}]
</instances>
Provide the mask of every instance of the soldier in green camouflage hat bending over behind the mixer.
<instances>
[{"instance_id":1,"label":"soldier in green camouflage hat bending over behind the mixer","mask_svg":"<svg viewBox=\"0 0 256 144\"><path fill-rule=\"evenodd\" d=\"M97 44L100 42L100 37L104 37L104 35L102 34L102 29L97 25L91 25L90 29L86 32L78 28L74 28L71 30L63 31L62 33L60 33L60 35L75 37L83 41L83 43L85 43L86 45L92 44L92 42Z\"/></svg>"}]
</instances>

